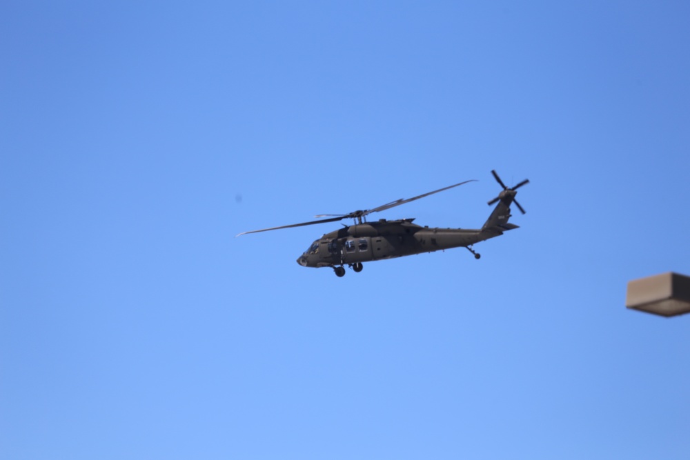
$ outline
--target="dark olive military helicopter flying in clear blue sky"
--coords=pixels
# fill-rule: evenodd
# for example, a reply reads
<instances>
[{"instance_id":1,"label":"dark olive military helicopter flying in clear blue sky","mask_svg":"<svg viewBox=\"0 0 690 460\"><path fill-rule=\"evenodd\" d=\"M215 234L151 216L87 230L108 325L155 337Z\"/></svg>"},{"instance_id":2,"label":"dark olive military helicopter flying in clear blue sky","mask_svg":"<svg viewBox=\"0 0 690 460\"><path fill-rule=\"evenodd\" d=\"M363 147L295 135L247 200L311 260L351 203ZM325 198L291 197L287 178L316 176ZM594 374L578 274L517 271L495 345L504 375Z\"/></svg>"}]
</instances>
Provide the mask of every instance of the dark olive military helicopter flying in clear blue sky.
<instances>
[{"instance_id":1,"label":"dark olive military helicopter flying in clear blue sky","mask_svg":"<svg viewBox=\"0 0 690 460\"><path fill-rule=\"evenodd\" d=\"M357 210L348 214L319 214L315 216L317 221L293 223L288 226L263 228L262 230L251 230L242 232L243 234L268 232L269 230L280 230L282 228L294 228L311 226L317 223L337 222L343 219L354 219L351 226L344 224L343 228L324 234L315 240L304 253L297 258L297 263L303 267L324 268L330 267L335 271L337 277L345 275L345 266L354 272L361 272L364 262L372 262L395 257L422 254L424 252L435 252L451 248L466 248L474 254L475 259L480 259L481 254L473 250L473 245L480 241L499 237L507 230L519 228L513 223L509 223L511 217L511 204L515 203L517 209L525 213L524 208L515 200L517 189L529 183L529 179L518 183L509 188L506 186L495 170L491 171L494 179L503 188L497 197L489 201L489 206L498 202L496 207L489 215L489 219L480 229L464 228L429 228L428 226L418 226L413 223L415 219L398 219L388 221L366 221L366 216L373 212L381 212L400 206L411 201L415 201L431 194L443 192L466 183L475 181L471 179L456 183L452 186L440 188L433 192L424 193L417 197L408 199L398 199L386 203L377 208L368 210ZM324 219L327 218L327 219Z\"/></svg>"}]
</instances>

